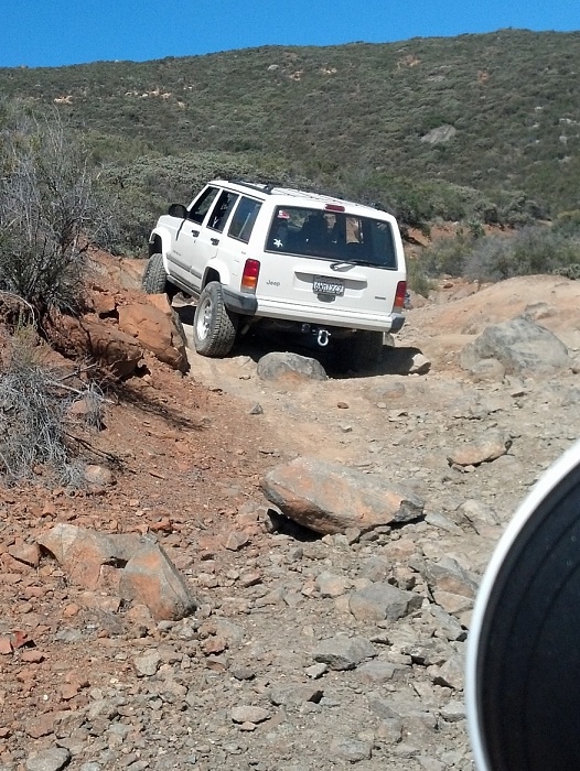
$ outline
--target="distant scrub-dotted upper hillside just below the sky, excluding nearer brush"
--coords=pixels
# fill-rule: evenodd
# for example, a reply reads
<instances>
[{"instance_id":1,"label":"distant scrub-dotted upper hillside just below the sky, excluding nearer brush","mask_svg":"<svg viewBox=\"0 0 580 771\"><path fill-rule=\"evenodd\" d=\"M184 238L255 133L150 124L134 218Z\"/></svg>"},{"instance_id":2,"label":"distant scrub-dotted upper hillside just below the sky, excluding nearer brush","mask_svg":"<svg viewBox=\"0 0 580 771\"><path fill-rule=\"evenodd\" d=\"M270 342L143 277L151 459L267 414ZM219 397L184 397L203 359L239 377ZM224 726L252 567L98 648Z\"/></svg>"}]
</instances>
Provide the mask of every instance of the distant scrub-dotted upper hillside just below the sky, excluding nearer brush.
<instances>
[{"instance_id":1,"label":"distant scrub-dotted upper hillside just below the sky, excluding nearer brush","mask_svg":"<svg viewBox=\"0 0 580 771\"><path fill-rule=\"evenodd\" d=\"M540 217L580 207L579 72L580 32L501 30L2 68L0 89L57 105L103 161L151 150L269 156L352 195L394 178L431 197L450 195L441 181L500 202L522 191Z\"/></svg>"}]
</instances>

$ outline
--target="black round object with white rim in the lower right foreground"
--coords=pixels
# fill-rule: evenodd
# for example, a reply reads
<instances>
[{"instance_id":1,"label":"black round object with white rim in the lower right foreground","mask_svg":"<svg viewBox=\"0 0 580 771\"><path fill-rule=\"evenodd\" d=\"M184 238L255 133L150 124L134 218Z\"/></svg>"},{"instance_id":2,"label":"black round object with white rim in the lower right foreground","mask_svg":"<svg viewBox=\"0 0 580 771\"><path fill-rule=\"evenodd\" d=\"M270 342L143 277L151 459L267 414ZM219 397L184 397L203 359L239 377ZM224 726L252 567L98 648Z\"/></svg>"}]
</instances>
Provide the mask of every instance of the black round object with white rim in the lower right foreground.
<instances>
[{"instance_id":1,"label":"black round object with white rim in the lower right foreground","mask_svg":"<svg viewBox=\"0 0 580 771\"><path fill-rule=\"evenodd\" d=\"M545 471L480 586L465 701L479 771L580 769L580 442Z\"/></svg>"}]
</instances>

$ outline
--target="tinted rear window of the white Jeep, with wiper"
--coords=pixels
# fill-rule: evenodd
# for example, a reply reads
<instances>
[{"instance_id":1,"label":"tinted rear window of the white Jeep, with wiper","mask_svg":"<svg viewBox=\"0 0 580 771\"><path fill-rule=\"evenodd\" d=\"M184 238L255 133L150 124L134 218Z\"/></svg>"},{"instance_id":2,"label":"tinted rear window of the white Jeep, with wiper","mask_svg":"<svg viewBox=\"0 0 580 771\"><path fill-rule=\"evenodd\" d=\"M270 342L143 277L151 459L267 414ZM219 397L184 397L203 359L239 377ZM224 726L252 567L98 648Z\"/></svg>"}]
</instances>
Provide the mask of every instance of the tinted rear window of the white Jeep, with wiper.
<instances>
[{"instance_id":1,"label":"tinted rear window of the white Jeep, with wiper","mask_svg":"<svg viewBox=\"0 0 580 771\"><path fill-rule=\"evenodd\" d=\"M266 250L397 268L390 224L344 211L278 206Z\"/></svg>"}]
</instances>

